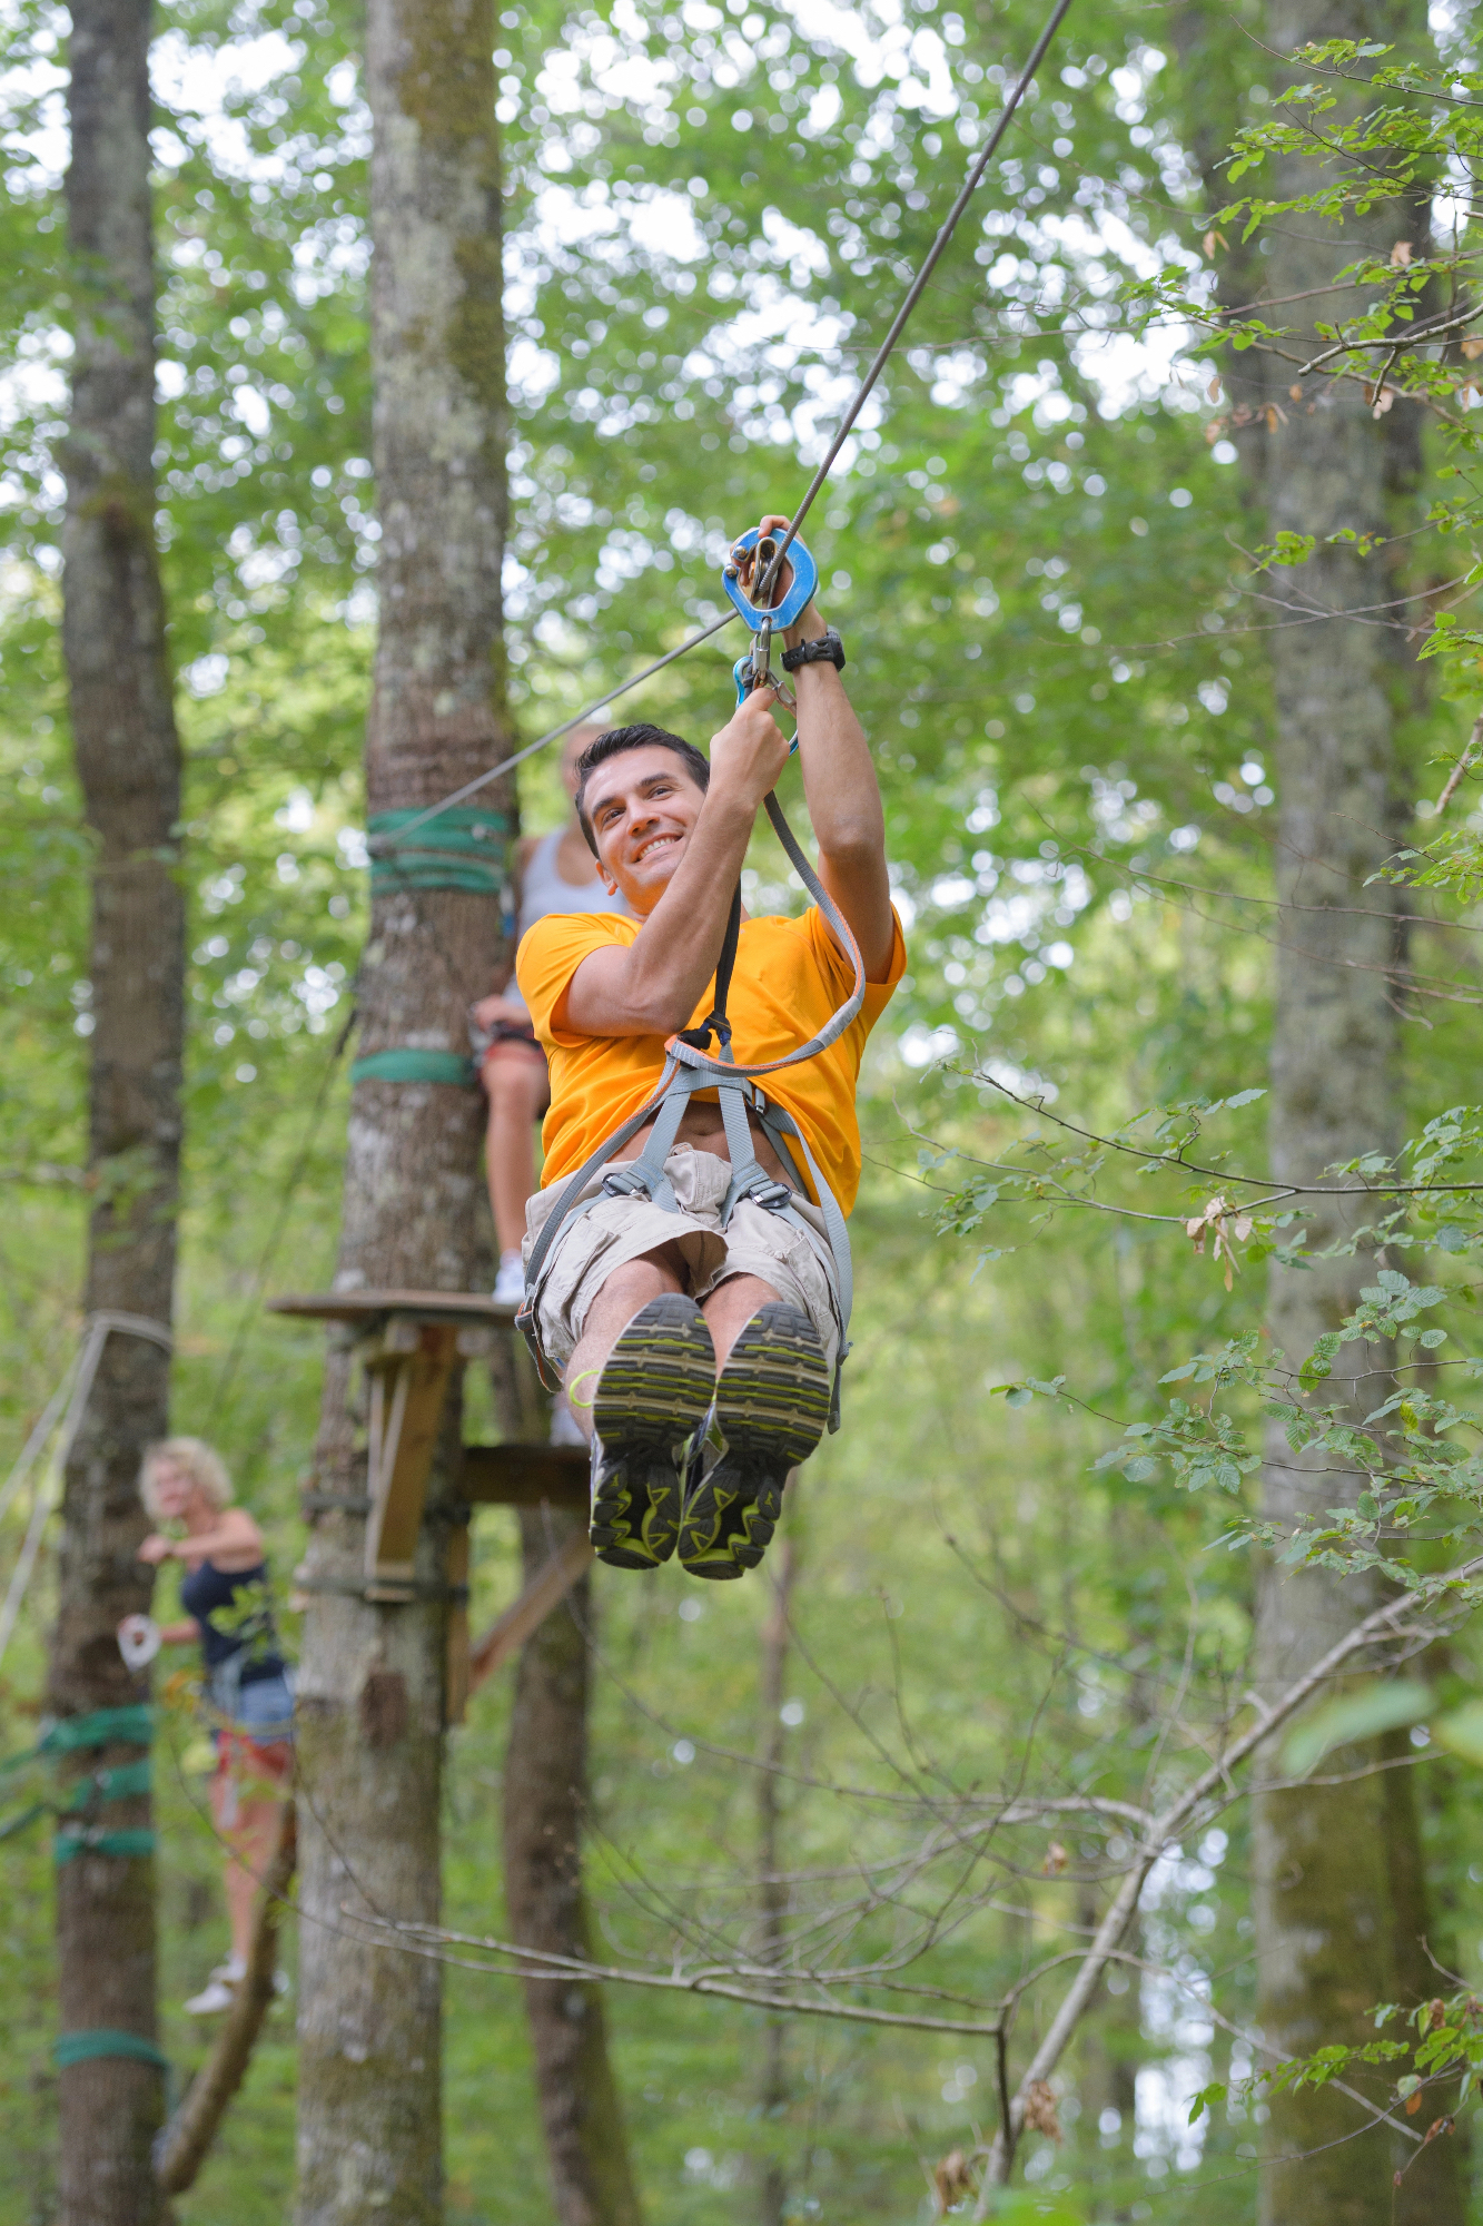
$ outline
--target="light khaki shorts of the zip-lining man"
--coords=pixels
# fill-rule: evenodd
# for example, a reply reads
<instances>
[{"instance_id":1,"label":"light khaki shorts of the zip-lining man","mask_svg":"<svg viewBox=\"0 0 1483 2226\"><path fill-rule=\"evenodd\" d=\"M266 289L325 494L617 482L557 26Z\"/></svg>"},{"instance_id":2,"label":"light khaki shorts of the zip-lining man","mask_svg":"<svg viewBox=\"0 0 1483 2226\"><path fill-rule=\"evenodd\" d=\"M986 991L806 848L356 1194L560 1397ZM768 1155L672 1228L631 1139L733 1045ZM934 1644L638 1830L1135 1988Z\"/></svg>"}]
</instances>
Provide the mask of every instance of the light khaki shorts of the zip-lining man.
<instances>
[{"instance_id":1,"label":"light khaki shorts of the zip-lining man","mask_svg":"<svg viewBox=\"0 0 1483 2226\"><path fill-rule=\"evenodd\" d=\"M617 1162L619 1166L623 1162ZM677 1213L648 1198L599 1198L557 1238L537 1289L537 1333L552 1365L563 1367L588 1320L588 1309L615 1269L677 1244L690 1298L706 1298L728 1275L759 1275L777 1296L797 1307L815 1327L824 1358L833 1367L839 1351L839 1291L835 1262L824 1235L824 1215L799 1191L793 1206L806 1229L742 1198L721 1229L721 1204L730 1186L730 1160L713 1151L677 1144L664 1162L675 1189ZM601 1173L581 1198L601 1191ZM566 1184L552 1182L526 1206L526 1258L546 1227Z\"/></svg>"}]
</instances>

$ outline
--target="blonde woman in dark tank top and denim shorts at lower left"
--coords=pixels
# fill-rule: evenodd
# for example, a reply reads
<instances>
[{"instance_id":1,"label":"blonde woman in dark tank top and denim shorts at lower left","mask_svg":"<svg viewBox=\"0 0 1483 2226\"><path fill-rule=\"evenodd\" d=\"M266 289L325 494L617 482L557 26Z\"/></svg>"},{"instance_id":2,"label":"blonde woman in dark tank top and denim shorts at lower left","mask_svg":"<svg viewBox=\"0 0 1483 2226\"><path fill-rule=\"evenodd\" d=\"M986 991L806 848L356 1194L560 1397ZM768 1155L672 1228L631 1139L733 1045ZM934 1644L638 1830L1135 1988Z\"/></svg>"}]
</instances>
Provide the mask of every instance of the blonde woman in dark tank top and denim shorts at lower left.
<instances>
[{"instance_id":1,"label":"blonde woman in dark tank top and denim shorts at lower left","mask_svg":"<svg viewBox=\"0 0 1483 2226\"><path fill-rule=\"evenodd\" d=\"M267 1603L263 1531L232 1505L227 1469L203 1438L165 1438L145 1454L140 1498L160 1527L138 1558L185 1563L180 1605L163 1645L200 1641L216 1730L212 1816L227 1848L225 1890L232 1954L185 2003L191 2017L232 2006L247 1970L252 1905L278 1836L276 1787L294 1774L294 1692Z\"/></svg>"}]
</instances>

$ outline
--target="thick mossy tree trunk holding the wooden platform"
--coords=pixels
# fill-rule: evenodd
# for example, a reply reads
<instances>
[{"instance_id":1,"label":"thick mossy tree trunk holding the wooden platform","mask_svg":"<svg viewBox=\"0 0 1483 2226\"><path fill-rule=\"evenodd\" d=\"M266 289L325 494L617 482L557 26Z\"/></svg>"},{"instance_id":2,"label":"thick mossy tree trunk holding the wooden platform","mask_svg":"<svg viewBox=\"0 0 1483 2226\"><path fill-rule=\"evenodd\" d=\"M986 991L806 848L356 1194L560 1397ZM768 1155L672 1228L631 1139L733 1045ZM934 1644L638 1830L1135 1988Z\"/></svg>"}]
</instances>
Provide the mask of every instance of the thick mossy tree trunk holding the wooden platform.
<instances>
[{"instance_id":1,"label":"thick mossy tree trunk holding the wooden platform","mask_svg":"<svg viewBox=\"0 0 1483 2226\"><path fill-rule=\"evenodd\" d=\"M372 835L508 752L501 654L505 398L501 187L488 0L370 0L374 465L381 634L365 746ZM485 790L481 826L510 812ZM390 828L396 821L392 817ZM505 833L510 833L505 824ZM499 951L499 899L445 859L372 870L361 1051L465 1053L465 1006ZM456 848L459 835L463 850ZM477 830L474 830L477 835ZM448 846L445 846L448 848ZM485 844L488 855L488 844ZM392 855L392 864L396 855ZM456 1082L356 1073L336 1287L465 1291L481 1260L479 1097ZM318 1436L330 1494L365 1491L352 1356L332 1338ZM441 1974L359 1937L356 1910L436 1923L450 1398L407 1605L352 1592L363 1523L321 1516L301 1723L301 2226L430 2226L443 2208ZM443 1596L439 1596L443 1592Z\"/></svg>"}]
</instances>

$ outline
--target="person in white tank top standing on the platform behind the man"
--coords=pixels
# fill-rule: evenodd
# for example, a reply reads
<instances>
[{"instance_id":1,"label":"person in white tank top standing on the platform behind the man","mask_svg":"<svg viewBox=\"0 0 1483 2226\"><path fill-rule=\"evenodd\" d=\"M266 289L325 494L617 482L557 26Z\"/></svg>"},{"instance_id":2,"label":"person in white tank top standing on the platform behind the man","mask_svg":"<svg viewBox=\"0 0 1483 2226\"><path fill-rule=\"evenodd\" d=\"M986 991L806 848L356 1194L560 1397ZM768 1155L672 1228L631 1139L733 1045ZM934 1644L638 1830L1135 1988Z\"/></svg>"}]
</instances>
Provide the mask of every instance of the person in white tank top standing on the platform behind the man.
<instances>
[{"instance_id":1,"label":"person in white tank top standing on the platform behind the man","mask_svg":"<svg viewBox=\"0 0 1483 2226\"><path fill-rule=\"evenodd\" d=\"M577 759L601 732L597 726L574 728L561 746L561 786L577 797ZM519 848L519 933L528 935L548 913L621 913L628 902L610 893L599 864L581 833L577 808L550 835L528 835ZM474 1006L474 1026L483 1040L479 1082L490 1102L485 1135L485 1169L490 1206L499 1238L499 1275L494 1298L519 1307L526 1296L526 1202L534 1195L534 1124L550 1106L546 1053L534 1040L530 1006L514 979L514 953L505 982L492 997ZM581 1436L574 1436L581 1442Z\"/></svg>"}]
</instances>

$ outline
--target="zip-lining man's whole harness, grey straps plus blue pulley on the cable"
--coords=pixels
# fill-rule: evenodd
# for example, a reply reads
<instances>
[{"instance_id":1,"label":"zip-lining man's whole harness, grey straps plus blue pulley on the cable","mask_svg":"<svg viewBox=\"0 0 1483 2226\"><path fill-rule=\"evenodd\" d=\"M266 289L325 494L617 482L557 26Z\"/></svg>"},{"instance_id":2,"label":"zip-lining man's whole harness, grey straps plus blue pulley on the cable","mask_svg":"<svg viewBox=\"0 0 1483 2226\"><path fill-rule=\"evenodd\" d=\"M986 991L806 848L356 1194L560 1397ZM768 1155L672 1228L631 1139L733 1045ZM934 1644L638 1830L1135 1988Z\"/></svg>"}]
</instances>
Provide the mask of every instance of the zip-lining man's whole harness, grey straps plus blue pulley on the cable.
<instances>
[{"instance_id":1,"label":"zip-lining man's whole harness, grey straps plus blue pulley on the cable","mask_svg":"<svg viewBox=\"0 0 1483 2226\"><path fill-rule=\"evenodd\" d=\"M744 534L742 541L733 545L733 552L721 572L721 583L726 594L733 599L737 610L748 623L755 623L753 648L746 657L737 661L737 699L746 699L753 688L779 690L779 683L768 670L768 648L773 637L773 626L790 626L808 603L813 588L817 585L817 565L808 550L799 541L793 543L793 581L788 583L779 603L762 605L753 603L746 594L746 581L768 563L768 539L759 543L757 528ZM775 577L777 568L773 568ZM835 646L839 637L833 637ZM839 661L844 650L839 648ZM833 663L833 657L831 657ZM793 743L797 748L797 741ZM679 1135L679 1124L686 1117L690 1097L697 1091L715 1091L721 1106L721 1122L726 1129L726 1153L730 1158L730 1184L721 1202L721 1229L730 1224L730 1215L737 1204L746 1198L766 1213L777 1213L782 1220L793 1222L797 1229L808 1229L802 1213L793 1204L793 1191L777 1175L770 1175L757 1158L757 1144L753 1142L753 1126L748 1111L757 1117L757 1126L770 1140L777 1158L784 1166L799 1166L797 1151L802 1153L802 1164L813 1180L813 1189L819 1200L819 1211L824 1215L824 1235L828 1240L828 1251L835 1264L835 1284L839 1296L839 1351L835 1358L835 1382L831 1396L828 1427L839 1427L839 1369L844 1356L848 1353L848 1327L851 1327L851 1304L853 1304L853 1267L851 1267L851 1238L848 1224L839 1209L835 1193L819 1173L817 1160L808 1149L808 1137L793 1120L793 1115L773 1104L759 1089L757 1080L764 1075L777 1075L788 1066L802 1066L804 1060L813 1060L819 1051L828 1051L844 1031L851 1026L860 1006L864 1002L864 962L860 957L860 944L855 942L851 926L833 902L817 873L808 864L793 828L784 817L784 808L775 792L764 797L764 808L773 821L773 833L788 855L788 864L802 879L804 888L817 904L831 935L839 944L839 951L851 962L853 982L851 993L844 1004L833 1013L833 1017L819 1028L817 1035L799 1044L782 1060L766 1060L757 1066L737 1066L730 1048L730 1020L726 1017L726 999L730 993L730 977L737 964L737 944L742 937L742 884L737 884L730 913L726 919L726 935L721 939L721 955L715 968L715 1004L699 1028L681 1028L666 1042L664 1073L652 1097L630 1113L628 1120L603 1142L597 1151L583 1160L574 1175L566 1182L557 1204L552 1206L546 1224L530 1251L526 1262L526 1300L514 1316L514 1324L530 1345L537 1367L546 1380L546 1356L541 1353L537 1309L541 1296L543 1271L554 1253L557 1240L588 1213L599 1198L648 1198L650 1204L661 1206L666 1213L677 1213L679 1204L675 1200L675 1189L664 1171L664 1162L670 1155L675 1137ZM710 1057L710 1040L717 1040L717 1053ZM644 1151L637 1160L623 1160L619 1166L608 1166L615 1153L628 1144L646 1122L652 1120L652 1131ZM601 1173L606 1169L606 1173ZM601 1173L599 1186L590 1193L588 1184Z\"/></svg>"}]
</instances>

